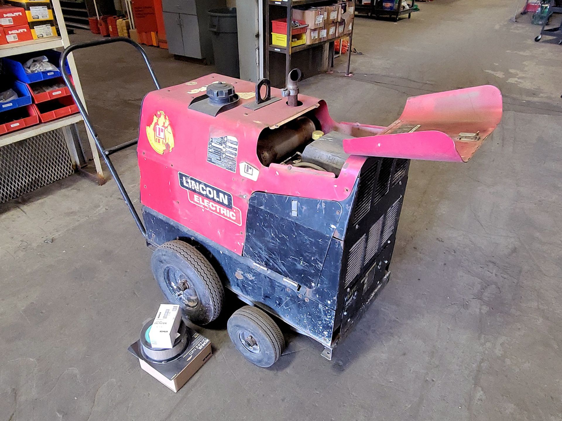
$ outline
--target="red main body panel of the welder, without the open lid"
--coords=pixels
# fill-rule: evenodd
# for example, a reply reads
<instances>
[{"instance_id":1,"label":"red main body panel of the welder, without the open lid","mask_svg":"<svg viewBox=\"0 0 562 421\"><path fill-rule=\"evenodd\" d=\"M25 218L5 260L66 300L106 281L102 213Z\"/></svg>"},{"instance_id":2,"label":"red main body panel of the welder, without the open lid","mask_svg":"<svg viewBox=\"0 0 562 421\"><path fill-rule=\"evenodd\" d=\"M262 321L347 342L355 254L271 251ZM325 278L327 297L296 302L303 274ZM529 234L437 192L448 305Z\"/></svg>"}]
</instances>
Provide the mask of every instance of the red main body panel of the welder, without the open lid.
<instances>
[{"instance_id":1,"label":"red main body panel of the welder, without the open lid","mask_svg":"<svg viewBox=\"0 0 562 421\"><path fill-rule=\"evenodd\" d=\"M205 94L206 85L218 80L234 85L236 92L242 94L242 103L255 100L243 99L248 96L244 93L251 95L255 91L255 84L216 74L153 91L144 98L138 143L140 200L143 205L242 254L248 201L253 192L343 200L350 194L365 157L348 158L337 178L333 173L309 168L262 166L256 152L260 132L305 112L314 110L325 132L336 129L353 135L359 126L334 122L323 101L306 95L299 96L302 102L299 107L288 107L283 98L256 111L239 104L216 117L188 109L193 98ZM281 92L273 88L271 95L280 97ZM382 129L365 127L373 134ZM208 162L209 145L210 139L224 136L234 139L237 146L229 149L233 159L221 167ZM215 193L212 198L200 190L189 190L180 183L182 175L214 187L215 192L232 195L232 199L222 203L220 199L224 195L217 197Z\"/></svg>"}]
</instances>

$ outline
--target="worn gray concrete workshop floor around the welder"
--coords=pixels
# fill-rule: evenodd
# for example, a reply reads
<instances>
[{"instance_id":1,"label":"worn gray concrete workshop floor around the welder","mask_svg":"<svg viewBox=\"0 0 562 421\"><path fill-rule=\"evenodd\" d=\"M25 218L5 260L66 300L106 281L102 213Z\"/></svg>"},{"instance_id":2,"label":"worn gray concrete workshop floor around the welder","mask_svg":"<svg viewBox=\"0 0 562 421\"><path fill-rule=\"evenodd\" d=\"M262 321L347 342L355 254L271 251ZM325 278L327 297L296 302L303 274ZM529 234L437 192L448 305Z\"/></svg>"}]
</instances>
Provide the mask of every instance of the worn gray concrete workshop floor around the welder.
<instances>
[{"instance_id":1,"label":"worn gray concrete workshop floor around the welder","mask_svg":"<svg viewBox=\"0 0 562 421\"><path fill-rule=\"evenodd\" d=\"M355 76L338 63L302 84L337 120L384 125L414 94L490 83L505 101L470 163L413 162L392 281L332 362L286 332L278 364L257 368L225 314L198 329L214 356L174 394L126 351L162 295L115 183L76 175L2 205L0 420L562 419L562 47L534 43L530 16L510 22L515 3L357 19ZM147 50L165 86L212 70ZM131 51L77 54L107 145L134 138L151 89ZM137 197L135 151L115 161Z\"/></svg>"}]
</instances>

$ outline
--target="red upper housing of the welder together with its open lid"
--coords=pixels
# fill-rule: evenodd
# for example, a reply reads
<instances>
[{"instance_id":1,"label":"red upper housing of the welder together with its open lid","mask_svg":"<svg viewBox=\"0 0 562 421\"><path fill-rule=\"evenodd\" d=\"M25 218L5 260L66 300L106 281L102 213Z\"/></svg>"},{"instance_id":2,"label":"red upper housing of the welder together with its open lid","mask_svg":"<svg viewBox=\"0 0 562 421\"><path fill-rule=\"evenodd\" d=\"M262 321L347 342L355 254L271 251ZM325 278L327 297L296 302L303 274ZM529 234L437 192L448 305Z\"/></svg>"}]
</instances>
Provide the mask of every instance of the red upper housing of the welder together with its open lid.
<instances>
[{"instance_id":1,"label":"red upper housing of the welder together with its open lid","mask_svg":"<svg viewBox=\"0 0 562 421\"><path fill-rule=\"evenodd\" d=\"M189 109L217 81L232 84L237 106L212 117ZM140 200L217 244L242 254L252 193L301 198L346 199L365 156L466 162L501 120L501 93L493 86L408 99L400 119L388 127L337 123L323 100L300 95L302 105L280 99L252 111L255 84L211 74L149 93L140 113ZM271 89L280 97L279 89ZM343 140L351 154L336 177L331 172L284 164L265 167L257 157L262 131L313 113L325 133Z\"/></svg>"}]
</instances>

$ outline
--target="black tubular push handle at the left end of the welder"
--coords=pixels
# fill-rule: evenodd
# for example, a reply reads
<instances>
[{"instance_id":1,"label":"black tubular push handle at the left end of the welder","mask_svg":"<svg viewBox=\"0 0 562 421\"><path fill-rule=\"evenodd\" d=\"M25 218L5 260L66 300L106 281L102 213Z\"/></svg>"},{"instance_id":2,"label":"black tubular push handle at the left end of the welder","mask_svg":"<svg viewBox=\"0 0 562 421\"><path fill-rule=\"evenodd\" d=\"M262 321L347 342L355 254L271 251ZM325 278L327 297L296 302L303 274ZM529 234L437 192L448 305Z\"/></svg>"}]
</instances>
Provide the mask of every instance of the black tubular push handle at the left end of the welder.
<instances>
[{"instance_id":1,"label":"black tubular push handle at the left end of the welder","mask_svg":"<svg viewBox=\"0 0 562 421\"><path fill-rule=\"evenodd\" d=\"M72 85L72 81L70 80L70 75L66 71L66 66L65 66L66 58L68 57L68 55L72 51L75 51L75 50L81 49L81 48L95 47L96 45L111 44L111 43L116 43L116 42L125 42L125 43L128 43L128 44L131 44L131 45L133 45L133 47L135 47L138 50L138 52L142 55L142 57L144 59L144 62L146 63L146 65L148 67L148 71L150 72L150 75L152 76L152 80L154 81L154 84L156 85L156 89L160 89L160 84L158 83L158 80L156 79L156 75L154 73L154 70L152 69L152 65L150 64L150 61L148 60L148 56L146 55L146 52L144 51L144 49L142 47L140 47L139 44L135 43L133 40L131 40L129 38L125 38L124 36L117 36L115 38L103 38L103 39L99 39L99 40L95 40L95 41L87 41L87 42L83 42L83 43L69 45L69 47L66 47L65 51L62 52L61 60L60 60L59 65L60 65L60 69L61 69L62 79L64 79L64 81L66 83L66 86L68 86L68 88L70 90L70 94L72 95L72 99L74 99L74 102L78 106L78 110L80 111L80 115L84 119L84 124L86 125L88 131L90 132L94 141L96 142L96 146L99 149L99 152L101 153L103 161L105 161L105 163L107 165L107 168L108 168L109 172L111 173L111 176L114 178L115 182L117 183L117 187L119 188L121 196L123 196L123 199L125 200L125 203L126 203L127 207L129 208L129 211L131 212L131 214L132 214L132 216L135 220L135 223L137 223L137 227L140 230L140 234L142 234L143 237L148 240L148 237L147 237L147 234L146 234L146 228L144 228L144 225L143 225L142 221L140 220L140 217L137 213L137 209L134 208L133 202L131 201L131 199L129 197L129 194L127 193L127 191L125 190L125 187L123 186L123 182L121 182L121 179L119 178L119 175L117 175L117 171L115 170L115 167L113 166L113 163L111 162L111 159L109 157L110 154L106 153L106 149L103 148L103 145L102 145L101 141L99 141L96 129L94 129L94 126L92 125L92 122L90 121L90 118L88 116L88 112L86 111L86 108L84 107L84 104L80 100L80 97L78 96L78 93L76 92L76 89L74 88L74 85Z\"/></svg>"}]
</instances>

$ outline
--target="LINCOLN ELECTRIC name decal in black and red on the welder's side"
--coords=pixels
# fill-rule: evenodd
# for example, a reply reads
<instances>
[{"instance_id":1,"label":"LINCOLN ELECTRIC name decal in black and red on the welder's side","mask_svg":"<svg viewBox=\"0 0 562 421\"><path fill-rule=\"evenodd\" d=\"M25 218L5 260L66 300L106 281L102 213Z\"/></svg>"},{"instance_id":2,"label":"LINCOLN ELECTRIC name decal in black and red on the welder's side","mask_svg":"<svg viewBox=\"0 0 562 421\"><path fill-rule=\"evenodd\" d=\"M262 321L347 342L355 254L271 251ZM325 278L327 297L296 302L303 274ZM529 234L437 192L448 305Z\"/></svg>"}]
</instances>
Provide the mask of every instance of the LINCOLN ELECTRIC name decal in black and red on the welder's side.
<instances>
[{"instance_id":1,"label":"LINCOLN ELECTRIC name decal in black and red on the welder's side","mask_svg":"<svg viewBox=\"0 0 562 421\"><path fill-rule=\"evenodd\" d=\"M187 190L189 202L227 221L242 226L242 212L232 204L232 194L178 172L179 185Z\"/></svg>"}]
</instances>

